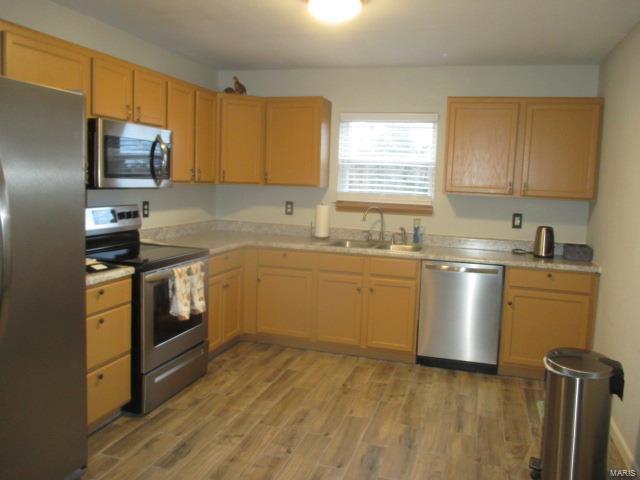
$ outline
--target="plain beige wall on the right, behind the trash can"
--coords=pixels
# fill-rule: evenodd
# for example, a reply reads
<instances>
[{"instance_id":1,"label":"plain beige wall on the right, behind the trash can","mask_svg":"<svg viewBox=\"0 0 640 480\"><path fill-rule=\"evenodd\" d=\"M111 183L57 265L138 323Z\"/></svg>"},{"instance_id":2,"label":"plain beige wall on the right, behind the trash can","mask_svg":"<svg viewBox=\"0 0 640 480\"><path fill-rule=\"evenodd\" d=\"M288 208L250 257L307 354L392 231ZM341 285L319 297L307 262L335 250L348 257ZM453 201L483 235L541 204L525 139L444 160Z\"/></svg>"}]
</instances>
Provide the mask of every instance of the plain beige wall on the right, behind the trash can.
<instances>
[{"instance_id":1,"label":"plain beige wall on the right, behind the trash can","mask_svg":"<svg viewBox=\"0 0 640 480\"><path fill-rule=\"evenodd\" d=\"M640 26L601 67L605 97L600 194L588 238L602 264L595 349L622 362L624 401L613 418L640 464Z\"/></svg>"}]
</instances>

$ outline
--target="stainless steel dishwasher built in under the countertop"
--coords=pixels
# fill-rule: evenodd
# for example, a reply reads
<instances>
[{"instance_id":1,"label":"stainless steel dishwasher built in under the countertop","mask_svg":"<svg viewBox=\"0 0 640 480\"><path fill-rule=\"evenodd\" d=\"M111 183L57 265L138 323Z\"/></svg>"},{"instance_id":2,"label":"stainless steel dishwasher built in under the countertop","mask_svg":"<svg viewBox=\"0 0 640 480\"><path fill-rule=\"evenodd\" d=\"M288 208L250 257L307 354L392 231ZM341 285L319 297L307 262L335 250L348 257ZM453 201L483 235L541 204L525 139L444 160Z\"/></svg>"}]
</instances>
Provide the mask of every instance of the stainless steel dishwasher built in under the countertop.
<instances>
[{"instance_id":1,"label":"stainless steel dishwasher built in under the countertop","mask_svg":"<svg viewBox=\"0 0 640 480\"><path fill-rule=\"evenodd\" d=\"M503 277L499 265L422 262L418 363L497 372Z\"/></svg>"}]
</instances>

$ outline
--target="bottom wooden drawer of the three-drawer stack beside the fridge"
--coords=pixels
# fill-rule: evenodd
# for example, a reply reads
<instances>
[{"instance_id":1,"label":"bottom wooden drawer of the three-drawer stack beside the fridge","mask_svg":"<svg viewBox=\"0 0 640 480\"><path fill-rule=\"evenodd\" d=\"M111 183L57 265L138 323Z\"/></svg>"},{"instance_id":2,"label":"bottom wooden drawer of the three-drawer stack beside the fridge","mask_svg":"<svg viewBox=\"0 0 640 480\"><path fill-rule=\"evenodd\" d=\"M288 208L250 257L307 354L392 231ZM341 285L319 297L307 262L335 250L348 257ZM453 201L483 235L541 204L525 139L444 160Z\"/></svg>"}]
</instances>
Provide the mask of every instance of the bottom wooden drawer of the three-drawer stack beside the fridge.
<instances>
[{"instance_id":1,"label":"bottom wooden drawer of the three-drawer stack beside the fridge","mask_svg":"<svg viewBox=\"0 0 640 480\"><path fill-rule=\"evenodd\" d=\"M87 423L117 410L131 399L131 355L87 375Z\"/></svg>"}]
</instances>

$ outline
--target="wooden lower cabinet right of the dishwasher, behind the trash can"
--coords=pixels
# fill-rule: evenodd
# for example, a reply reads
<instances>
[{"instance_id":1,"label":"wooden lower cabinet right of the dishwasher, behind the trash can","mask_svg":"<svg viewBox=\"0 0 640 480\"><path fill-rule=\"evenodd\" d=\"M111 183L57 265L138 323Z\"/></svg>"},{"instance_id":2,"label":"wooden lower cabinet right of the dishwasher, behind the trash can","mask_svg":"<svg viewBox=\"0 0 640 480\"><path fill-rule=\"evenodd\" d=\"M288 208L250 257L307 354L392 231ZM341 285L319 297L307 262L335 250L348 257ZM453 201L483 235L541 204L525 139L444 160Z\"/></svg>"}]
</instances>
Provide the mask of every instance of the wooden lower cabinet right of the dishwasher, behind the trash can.
<instances>
[{"instance_id":1,"label":"wooden lower cabinet right of the dishwasher, behind the trash can","mask_svg":"<svg viewBox=\"0 0 640 480\"><path fill-rule=\"evenodd\" d=\"M595 274L508 269L501 372L541 377L550 350L591 348L596 289Z\"/></svg>"}]
</instances>

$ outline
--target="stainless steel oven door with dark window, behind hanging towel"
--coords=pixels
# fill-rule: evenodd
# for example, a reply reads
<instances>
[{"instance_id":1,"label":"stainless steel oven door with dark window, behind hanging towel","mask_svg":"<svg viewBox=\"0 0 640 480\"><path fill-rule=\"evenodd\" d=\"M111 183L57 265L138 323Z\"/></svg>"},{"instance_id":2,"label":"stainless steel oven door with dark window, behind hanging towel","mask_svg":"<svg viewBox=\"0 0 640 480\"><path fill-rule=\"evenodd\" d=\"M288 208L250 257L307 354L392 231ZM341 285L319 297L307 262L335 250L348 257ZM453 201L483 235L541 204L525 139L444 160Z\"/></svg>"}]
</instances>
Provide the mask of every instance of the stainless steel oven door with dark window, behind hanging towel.
<instances>
[{"instance_id":1,"label":"stainless steel oven door with dark window, behind hanging towel","mask_svg":"<svg viewBox=\"0 0 640 480\"><path fill-rule=\"evenodd\" d=\"M187 266L195 262L203 264L205 301L209 308L207 258L191 260L174 267ZM180 320L169 313L169 281L172 278L171 268L153 270L141 275L141 373L153 370L207 338L207 312L191 314L186 320Z\"/></svg>"}]
</instances>

